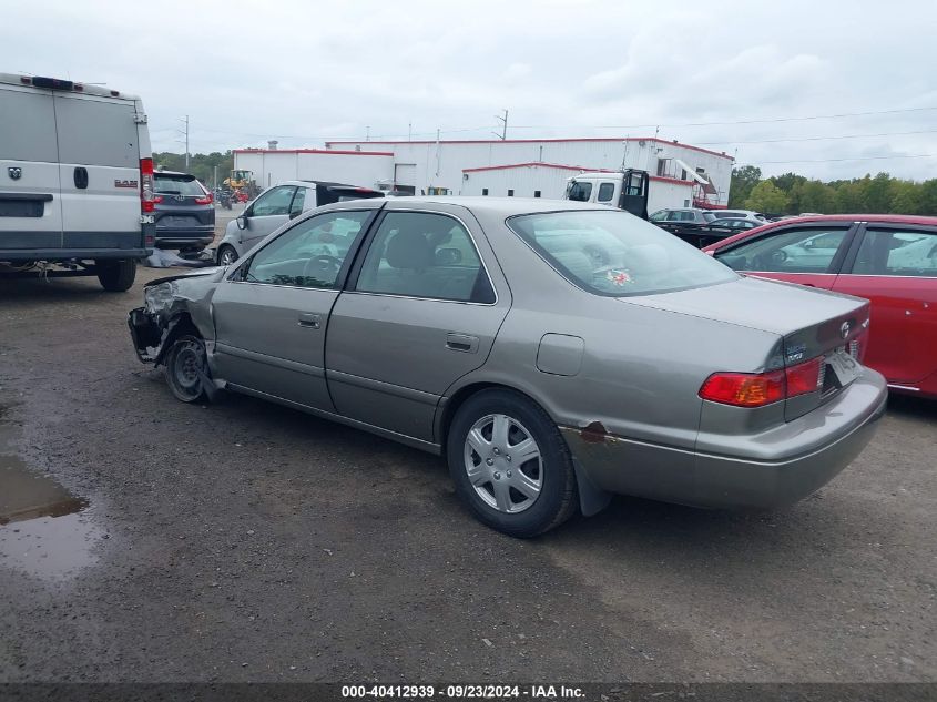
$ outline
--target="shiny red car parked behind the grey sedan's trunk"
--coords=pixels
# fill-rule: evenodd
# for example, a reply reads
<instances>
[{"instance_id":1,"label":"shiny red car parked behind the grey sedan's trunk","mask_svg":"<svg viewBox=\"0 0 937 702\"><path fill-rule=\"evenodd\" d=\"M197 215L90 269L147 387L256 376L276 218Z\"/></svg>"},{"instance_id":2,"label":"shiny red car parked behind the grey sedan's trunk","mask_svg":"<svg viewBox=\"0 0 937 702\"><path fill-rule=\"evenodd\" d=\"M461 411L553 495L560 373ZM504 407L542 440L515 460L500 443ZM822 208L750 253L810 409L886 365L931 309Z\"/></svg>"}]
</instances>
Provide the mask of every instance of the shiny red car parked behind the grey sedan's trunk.
<instances>
[{"instance_id":1,"label":"shiny red car parked behind the grey sedan's trunk","mask_svg":"<svg viewBox=\"0 0 937 702\"><path fill-rule=\"evenodd\" d=\"M937 217L796 217L703 251L740 273L870 301L865 364L893 390L937 398Z\"/></svg>"}]
</instances>

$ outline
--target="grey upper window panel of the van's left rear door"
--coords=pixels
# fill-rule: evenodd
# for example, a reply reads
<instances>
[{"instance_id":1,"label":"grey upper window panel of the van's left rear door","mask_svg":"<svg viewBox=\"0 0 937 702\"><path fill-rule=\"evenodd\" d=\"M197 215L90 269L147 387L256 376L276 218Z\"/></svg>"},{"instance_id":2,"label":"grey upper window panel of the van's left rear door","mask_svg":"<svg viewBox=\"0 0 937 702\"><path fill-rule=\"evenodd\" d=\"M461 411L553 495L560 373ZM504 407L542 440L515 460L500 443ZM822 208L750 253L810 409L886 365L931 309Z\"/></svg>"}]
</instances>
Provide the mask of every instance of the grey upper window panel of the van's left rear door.
<instances>
[{"instance_id":1,"label":"grey upper window panel of the van's left rear door","mask_svg":"<svg viewBox=\"0 0 937 702\"><path fill-rule=\"evenodd\" d=\"M59 160L52 95L0 87L0 159L48 163ZM7 174L0 176L6 179ZM54 185L58 190L58 179Z\"/></svg>"}]
</instances>

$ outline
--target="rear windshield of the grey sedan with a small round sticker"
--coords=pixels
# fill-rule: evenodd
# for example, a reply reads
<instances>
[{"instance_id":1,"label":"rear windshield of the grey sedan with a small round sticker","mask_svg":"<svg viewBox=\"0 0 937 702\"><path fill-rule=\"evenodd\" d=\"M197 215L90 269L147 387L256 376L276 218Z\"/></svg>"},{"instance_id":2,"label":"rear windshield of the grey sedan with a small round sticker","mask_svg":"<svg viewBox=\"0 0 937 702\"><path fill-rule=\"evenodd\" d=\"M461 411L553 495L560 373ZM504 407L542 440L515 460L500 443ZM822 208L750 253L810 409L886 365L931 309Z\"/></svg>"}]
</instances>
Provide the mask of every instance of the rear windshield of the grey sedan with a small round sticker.
<instances>
[{"instance_id":1,"label":"rear windshield of the grey sedan with a small round sticker","mask_svg":"<svg viewBox=\"0 0 937 702\"><path fill-rule=\"evenodd\" d=\"M508 226L566 278L623 297L703 287L739 276L653 224L614 211L519 215Z\"/></svg>"}]
</instances>

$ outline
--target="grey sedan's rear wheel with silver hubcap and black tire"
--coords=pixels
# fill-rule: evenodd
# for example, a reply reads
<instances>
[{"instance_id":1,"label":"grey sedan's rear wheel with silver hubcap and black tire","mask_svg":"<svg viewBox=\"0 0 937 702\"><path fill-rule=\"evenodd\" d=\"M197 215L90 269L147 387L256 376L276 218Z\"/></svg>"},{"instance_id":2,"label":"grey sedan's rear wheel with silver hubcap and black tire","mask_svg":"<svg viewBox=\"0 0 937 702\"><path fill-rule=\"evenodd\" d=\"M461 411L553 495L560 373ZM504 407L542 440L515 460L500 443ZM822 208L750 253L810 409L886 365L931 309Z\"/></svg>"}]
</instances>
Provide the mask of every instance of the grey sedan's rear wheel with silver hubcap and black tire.
<instances>
[{"instance_id":1,"label":"grey sedan's rear wheel with silver hubcap and black tire","mask_svg":"<svg viewBox=\"0 0 937 702\"><path fill-rule=\"evenodd\" d=\"M467 399L449 427L446 455L459 499L509 536L549 531L579 505L566 440L547 413L519 393L488 389Z\"/></svg>"}]
</instances>

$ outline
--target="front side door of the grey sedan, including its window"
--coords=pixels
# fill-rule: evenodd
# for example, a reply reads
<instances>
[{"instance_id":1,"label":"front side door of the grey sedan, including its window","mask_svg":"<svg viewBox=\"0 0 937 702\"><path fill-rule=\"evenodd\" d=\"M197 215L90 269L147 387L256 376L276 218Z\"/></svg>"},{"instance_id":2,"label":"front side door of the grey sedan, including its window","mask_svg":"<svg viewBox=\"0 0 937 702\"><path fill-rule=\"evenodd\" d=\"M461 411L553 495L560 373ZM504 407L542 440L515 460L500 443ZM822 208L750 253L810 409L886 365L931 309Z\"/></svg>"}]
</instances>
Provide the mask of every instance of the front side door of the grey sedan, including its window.
<instances>
[{"instance_id":1,"label":"front side door of the grey sedan, including its window","mask_svg":"<svg viewBox=\"0 0 937 702\"><path fill-rule=\"evenodd\" d=\"M333 411L325 384L328 317L376 208L297 223L241 264L212 299L216 377Z\"/></svg>"}]
</instances>

